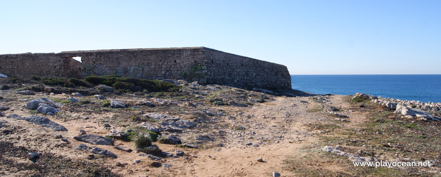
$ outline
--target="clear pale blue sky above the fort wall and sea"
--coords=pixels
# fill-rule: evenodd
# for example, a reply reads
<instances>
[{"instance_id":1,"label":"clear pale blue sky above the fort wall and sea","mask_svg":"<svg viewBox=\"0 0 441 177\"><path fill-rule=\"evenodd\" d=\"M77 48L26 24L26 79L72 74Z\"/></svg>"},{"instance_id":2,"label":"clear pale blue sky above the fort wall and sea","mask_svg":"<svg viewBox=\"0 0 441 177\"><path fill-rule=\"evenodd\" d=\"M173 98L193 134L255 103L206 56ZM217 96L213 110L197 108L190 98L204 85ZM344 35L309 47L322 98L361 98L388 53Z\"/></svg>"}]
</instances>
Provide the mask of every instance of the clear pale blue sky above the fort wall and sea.
<instances>
[{"instance_id":1,"label":"clear pale blue sky above the fort wall and sea","mask_svg":"<svg viewBox=\"0 0 441 177\"><path fill-rule=\"evenodd\" d=\"M0 1L0 54L208 47L290 74L441 74L441 1Z\"/></svg>"}]
</instances>

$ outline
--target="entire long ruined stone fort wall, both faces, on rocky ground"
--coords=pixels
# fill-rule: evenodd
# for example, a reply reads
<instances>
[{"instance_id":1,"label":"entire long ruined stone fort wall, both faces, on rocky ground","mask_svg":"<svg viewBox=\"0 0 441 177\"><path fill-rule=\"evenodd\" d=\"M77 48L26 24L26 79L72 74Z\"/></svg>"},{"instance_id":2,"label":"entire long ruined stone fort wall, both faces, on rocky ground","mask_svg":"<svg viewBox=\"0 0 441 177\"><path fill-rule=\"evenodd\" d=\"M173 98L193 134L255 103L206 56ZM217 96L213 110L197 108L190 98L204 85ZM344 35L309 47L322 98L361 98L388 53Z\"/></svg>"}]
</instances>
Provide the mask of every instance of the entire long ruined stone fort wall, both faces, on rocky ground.
<instances>
[{"instance_id":1,"label":"entire long ruined stone fort wall, both faces, on rocky ground","mask_svg":"<svg viewBox=\"0 0 441 177\"><path fill-rule=\"evenodd\" d=\"M81 62L73 57L81 57ZM291 87L286 66L204 47L6 54L0 55L0 73L17 77L75 78L120 75L245 88Z\"/></svg>"}]
</instances>

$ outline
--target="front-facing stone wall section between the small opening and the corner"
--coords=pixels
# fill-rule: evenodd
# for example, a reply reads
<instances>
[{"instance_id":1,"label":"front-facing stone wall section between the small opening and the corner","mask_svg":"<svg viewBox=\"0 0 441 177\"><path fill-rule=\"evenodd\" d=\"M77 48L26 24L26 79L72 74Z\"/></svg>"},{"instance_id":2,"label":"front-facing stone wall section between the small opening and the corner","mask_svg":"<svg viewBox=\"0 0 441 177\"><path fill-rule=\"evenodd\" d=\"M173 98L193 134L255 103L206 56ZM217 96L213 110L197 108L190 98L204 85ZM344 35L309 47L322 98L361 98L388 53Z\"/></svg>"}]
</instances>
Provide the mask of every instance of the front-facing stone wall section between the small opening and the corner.
<instances>
[{"instance_id":1,"label":"front-facing stone wall section between the small opening and the corner","mask_svg":"<svg viewBox=\"0 0 441 177\"><path fill-rule=\"evenodd\" d=\"M191 65L203 62L202 48L77 51L62 54L81 57L82 77L94 74L192 81L195 78L185 78L179 73L190 72Z\"/></svg>"}]
</instances>

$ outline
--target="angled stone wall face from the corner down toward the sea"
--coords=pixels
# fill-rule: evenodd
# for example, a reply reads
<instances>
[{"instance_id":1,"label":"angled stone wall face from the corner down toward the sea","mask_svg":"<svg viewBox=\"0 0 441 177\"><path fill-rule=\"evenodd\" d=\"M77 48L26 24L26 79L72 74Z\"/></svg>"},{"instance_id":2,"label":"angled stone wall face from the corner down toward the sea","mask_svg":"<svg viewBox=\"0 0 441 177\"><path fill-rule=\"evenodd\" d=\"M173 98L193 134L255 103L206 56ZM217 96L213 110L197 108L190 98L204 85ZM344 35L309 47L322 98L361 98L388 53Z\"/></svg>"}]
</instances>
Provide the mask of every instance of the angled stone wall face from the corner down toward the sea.
<instances>
[{"instance_id":1,"label":"angled stone wall face from the corner down toward the sea","mask_svg":"<svg viewBox=\"0 0 441 177\"><path fill-rule=\"evenodd\" d=\"M206 49L207 83L240 87L291 88L286 66Z\"/></svg>"}]
</instances>

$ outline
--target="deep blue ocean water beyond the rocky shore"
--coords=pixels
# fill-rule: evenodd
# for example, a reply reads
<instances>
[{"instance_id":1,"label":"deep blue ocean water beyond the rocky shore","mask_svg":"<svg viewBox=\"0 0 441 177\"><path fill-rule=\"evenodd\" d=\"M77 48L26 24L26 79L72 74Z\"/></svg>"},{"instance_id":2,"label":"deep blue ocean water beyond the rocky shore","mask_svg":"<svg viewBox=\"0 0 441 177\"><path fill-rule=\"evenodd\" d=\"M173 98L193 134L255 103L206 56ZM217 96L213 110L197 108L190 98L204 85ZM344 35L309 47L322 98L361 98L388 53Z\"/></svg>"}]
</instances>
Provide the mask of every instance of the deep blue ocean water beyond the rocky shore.
<instances>
[{"instance_id":1,"label":"deep blue ocean water beyond the rocky shore","mask_svg":"<svg viewBox=\"0 0 441 177\"><path fill-rule=\"evenodd\" d=\"M441 102L441 75L291 75L291 87L313 94L365 93L383 98Z\"/></svg>"}]
</instances>

